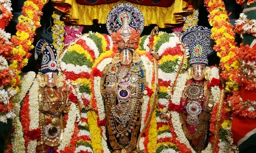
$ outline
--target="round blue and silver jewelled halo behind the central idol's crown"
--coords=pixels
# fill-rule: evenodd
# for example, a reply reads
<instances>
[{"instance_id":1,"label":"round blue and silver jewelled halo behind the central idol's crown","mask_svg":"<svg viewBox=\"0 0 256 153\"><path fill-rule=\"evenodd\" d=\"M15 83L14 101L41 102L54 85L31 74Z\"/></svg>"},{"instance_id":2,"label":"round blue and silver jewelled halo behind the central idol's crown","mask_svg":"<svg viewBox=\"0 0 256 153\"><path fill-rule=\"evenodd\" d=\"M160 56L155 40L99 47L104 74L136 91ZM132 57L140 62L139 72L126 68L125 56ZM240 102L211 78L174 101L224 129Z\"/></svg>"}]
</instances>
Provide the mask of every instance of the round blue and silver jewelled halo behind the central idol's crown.
<instances>
[{"instance_id":1,"label":"round blue and silver jewelled halo behind the central idol's crown","mask_svg":"<svg viewBox=\"0 0 256 153\"><path fill-rule=\"evenodd\" d=\"M144 29L144 17L140 9L129 3L116 5L107 15L107 31L110 35L122 27L120 14L126 12L129 15L129 26L139 30L140 34Z\"/></svg>"}]
</instances>

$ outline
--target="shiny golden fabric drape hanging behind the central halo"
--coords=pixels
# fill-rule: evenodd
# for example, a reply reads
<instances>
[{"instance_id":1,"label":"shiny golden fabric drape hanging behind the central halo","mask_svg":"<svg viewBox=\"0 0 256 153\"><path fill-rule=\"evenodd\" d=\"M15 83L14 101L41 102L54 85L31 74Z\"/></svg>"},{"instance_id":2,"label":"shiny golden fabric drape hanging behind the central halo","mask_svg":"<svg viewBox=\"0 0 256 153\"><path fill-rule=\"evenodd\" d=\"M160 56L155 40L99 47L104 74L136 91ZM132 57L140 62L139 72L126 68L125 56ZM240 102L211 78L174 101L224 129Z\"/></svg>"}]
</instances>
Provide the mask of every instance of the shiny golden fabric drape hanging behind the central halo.
<instances>
[{"instance_id":1,"label":"shiny golden fabric drape hanging behind the central halo","mask_svg":"<svg viewBox=\"0 0 256 153\"><path fill-rule=\"evenodd\" d=\"M126 0L119 0L116 3L85 6L76 3L76 0L52 0L55 2L55 9L64 12L63 19L66 22L79 25L92 25L93 20L97 19L99 24L106 24L107 15L110 10L120 3L131 3ZM145 19L145 26L157 24L164 28L174 24L183 23L183 13L192 11L188 0L175 0L170 7L143 6L131 3L137 6Z\"/></svg>"}]
</instances>

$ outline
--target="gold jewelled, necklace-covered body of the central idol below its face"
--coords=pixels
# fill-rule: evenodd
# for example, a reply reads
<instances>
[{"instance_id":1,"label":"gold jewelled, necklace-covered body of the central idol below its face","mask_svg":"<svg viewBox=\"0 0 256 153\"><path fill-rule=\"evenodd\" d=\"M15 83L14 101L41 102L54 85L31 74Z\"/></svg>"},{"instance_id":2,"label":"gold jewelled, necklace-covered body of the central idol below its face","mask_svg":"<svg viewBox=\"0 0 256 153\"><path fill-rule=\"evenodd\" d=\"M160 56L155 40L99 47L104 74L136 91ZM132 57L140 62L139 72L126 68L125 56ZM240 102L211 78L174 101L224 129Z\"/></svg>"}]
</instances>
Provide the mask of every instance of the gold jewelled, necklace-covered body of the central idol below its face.
<instances>
[{"instance_id":1,"label":"gold jewelled, necklace-covered body of the central idol below its face","mask_svg":"<svg viewBox=\"0 0 256 153\"><path fill-rule=\"evenodd\" d=\"M136 144L136 135L140 125L141 83L145 79L141 76L140 65L120 66L111 65L105 80L106 108L110 144L113 149L127 149ZM134 145L135 147L136 145Z\"/></svg>"}]
</instances>

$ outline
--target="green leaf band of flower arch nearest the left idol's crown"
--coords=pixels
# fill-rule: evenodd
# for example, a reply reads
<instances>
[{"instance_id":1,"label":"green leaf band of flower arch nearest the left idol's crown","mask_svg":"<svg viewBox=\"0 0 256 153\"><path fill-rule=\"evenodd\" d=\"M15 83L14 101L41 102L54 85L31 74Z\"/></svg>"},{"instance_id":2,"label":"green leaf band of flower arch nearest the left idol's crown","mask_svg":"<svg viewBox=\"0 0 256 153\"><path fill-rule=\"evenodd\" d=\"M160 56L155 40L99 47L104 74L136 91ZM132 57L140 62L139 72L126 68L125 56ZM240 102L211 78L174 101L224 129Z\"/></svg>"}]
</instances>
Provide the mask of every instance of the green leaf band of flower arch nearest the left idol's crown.
<instances>
[{"instance_id":1,"label":"green leaf band of flower arch nearest the left idol's crown","mask_svg":"<svg viewBox=\"0 0 256 153\"><path fill-rule=\"evenodd\" d=\"M66 64L73 64L83 66L86 65L88 68L91 68L92 62L89 59L86 59L85 54L79 54L76 51L68 51L65 53L62 59Z\"/></svg>"}]
</instances>

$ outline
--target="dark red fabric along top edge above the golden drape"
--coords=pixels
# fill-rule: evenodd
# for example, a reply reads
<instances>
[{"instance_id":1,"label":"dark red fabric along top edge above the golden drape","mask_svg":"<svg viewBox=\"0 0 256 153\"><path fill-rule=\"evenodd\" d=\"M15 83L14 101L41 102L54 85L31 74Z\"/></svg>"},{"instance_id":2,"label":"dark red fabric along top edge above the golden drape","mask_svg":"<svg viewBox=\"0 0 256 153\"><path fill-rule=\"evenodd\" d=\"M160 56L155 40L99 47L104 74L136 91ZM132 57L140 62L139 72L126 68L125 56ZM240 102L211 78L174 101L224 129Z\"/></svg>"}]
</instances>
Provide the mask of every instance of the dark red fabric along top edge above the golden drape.
<instances>
[{"instance_id":1,"label":"dark red fabric along top edge above the golden drape","mask_svg":"<svg viewBox=\"0 0 256 153\"><path fill-rule=\"evenodd\" d=\"M99 5L99 4L110 4L118 2L119 0L76 0L76 3L81 5ZM172 5L174 0L127 0L131 3L136 3L139 5L146 5L146 6L162 6L162 7L169 7Z\"/></svg>"}]
</instances>

